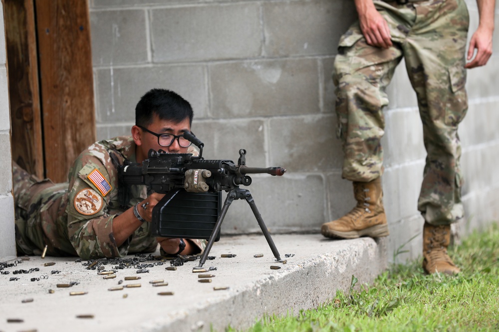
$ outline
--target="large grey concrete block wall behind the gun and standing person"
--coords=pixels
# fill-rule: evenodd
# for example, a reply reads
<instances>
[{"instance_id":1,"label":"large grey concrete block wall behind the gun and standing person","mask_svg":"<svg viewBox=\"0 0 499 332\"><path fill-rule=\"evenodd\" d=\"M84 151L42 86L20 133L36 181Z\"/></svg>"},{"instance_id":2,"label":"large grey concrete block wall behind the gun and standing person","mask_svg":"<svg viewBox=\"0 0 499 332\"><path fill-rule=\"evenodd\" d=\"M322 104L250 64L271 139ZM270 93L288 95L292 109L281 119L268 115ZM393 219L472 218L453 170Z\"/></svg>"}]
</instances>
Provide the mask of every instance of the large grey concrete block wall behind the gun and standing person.
<instances>
[{"instance_id":1,"label":"large grey concrete block wall behind the gun and standing person","mask_svg":"<svg viewBox=\"0 0 499 332\"><path fill-rule=\"evenodd\" d=\"M472 2L470 14L474 31ZM248 165L288 170L280 178L252 176L249 189L271 232L318 232L354 205L351 184L341 179L331 72L339 37L355 19L350 0L91 0L97 136L129 134L146 91L174 90L194 108L205 158L237 161L245 148ZM469 72L470 115L461 128L469 218L462 232L499 213L498 46L488 67ZM383 187L388 256L403 247L400 261L421 254L416 205L426 156L403 64L389 97ZM259 227L247 203L236 201L222 230Z\"/></svg>"}]
</instances>

